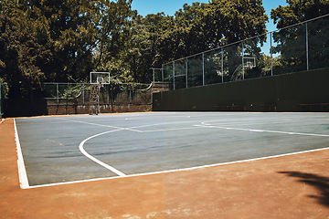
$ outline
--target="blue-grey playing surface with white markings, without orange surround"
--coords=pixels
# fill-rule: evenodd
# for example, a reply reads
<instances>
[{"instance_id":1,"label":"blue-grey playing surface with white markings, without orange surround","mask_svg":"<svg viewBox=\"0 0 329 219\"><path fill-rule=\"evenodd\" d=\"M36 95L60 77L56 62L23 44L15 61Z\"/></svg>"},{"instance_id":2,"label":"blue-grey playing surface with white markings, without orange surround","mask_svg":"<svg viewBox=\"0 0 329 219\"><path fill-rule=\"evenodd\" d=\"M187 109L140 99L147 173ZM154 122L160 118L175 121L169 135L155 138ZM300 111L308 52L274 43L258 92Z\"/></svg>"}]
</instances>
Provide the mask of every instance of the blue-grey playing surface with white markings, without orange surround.
<instances>
[{"instance_id":1,"label":"blue-grey playing surface with white markings, without orange surround","mask_svg":"<svg viewBox=\"0 0 329 219\"><path fill-rule=\"evenodd\" d=\"M16 130L28 186L175 171L329 147L329 113L21 118L16 119Z\"/></svg>"}]
</instances>

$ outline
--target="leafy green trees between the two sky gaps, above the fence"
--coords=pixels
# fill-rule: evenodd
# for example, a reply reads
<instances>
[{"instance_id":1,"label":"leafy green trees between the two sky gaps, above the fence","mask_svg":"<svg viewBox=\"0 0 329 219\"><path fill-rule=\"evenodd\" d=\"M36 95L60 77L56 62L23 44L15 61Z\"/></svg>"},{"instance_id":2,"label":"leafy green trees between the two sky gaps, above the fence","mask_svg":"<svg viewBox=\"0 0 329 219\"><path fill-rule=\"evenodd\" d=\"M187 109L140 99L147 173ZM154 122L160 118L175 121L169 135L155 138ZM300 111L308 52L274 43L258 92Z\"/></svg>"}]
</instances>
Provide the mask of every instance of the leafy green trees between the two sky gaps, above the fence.
<instances>
[{"instance_id":1,"label":"leafy green trees between the two sky gaps, above the fence","mask_svg":"<svg viewBox=\"0 0 329 219\"><path fill-rule=\"evenodd\" d=\"M170 60L264 34L267 21L261 0L186 4L175 16L134 16L129 50L123 56L133 79L146 82L152 80L151 68ZM261 36L249 47L260 52L256 48L265 39Z\"/></svg>"}]
</instances>

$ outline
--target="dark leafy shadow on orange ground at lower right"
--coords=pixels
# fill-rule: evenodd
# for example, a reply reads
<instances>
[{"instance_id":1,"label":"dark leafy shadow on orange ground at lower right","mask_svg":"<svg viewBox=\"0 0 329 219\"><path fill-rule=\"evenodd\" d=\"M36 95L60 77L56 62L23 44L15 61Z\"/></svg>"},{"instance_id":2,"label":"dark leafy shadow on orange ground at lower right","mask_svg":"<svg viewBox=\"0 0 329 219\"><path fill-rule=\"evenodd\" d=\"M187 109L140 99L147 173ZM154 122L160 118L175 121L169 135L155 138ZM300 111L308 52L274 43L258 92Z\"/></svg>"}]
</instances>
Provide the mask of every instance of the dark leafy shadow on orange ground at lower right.
<instances>
[{"instance_id":1,"label":"dark leafy shadow on orange ground at lower right","mask_svg":"<svg viewBox=\"0 0 329 219\"><path fill-rule=\"evenodd\" d=\"M304 172L279 172L288 176L299 178L299 182L315 187L321 195L309 195L310 198L317 199L319 203L329 207L329 178L312 173Z\"/></svg>"}]
</instances>

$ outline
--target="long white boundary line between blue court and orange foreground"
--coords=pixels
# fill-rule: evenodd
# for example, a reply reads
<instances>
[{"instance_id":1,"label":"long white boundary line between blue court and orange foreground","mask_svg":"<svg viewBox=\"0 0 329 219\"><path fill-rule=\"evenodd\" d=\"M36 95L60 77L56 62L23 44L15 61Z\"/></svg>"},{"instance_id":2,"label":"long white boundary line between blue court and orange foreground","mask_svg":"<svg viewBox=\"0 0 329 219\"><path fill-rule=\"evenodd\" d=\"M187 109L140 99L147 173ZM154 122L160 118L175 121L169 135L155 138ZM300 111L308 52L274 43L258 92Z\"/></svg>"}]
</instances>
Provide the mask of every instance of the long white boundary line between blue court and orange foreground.
<instances>
[{"instance_id":1,"label":"long white boundary line between blue court and orange foreground","mask_svg":"<svg viewBox=\"0 0 329 219\"><path fill-rule=\"evenodd\" d=\"M65 183L49 183L49 184L42 184L42 185L32 185L32 186L29 186L27 189L35 189L35 188L43 188L43 187L50 187L50 186L75 184L75 183L90 183L90 182L98 182L98 181L104 181L104 180L132 178L132 177L138 177L138 176L156 175L156 174L163 174L163 173L169 173L169 172L186 172L186 171L199 170L199 169L209 168L209 167L218 167L218 166L225 166L225 165L229 165L229 164L237 164L237 163L244 163L244 162L256 162L256 161L261 161L261 160L268 160L268 159L273 159L273 158L280 158L280 157L292 156L292 155L296 155L296 154L309 153L309 152L315 152L315 151L325 151L325 150L329 150L329 148L314 149L314 150L309 150L309 151L298 151L298 152L285 153L285 154L273 155L273 156L268 156L268 157L253 158L253 159L242 160L242 161L237 161L237 162L221 162L221 163L216 163L216 164L175 169L175 170L169 170L169 171L145 172L145 173L124 175L124 176L104 177L104 178L96 178L96 179L90 179L90 180L81 180L81 181L73 181L73 182L65 182Z\"/></svg>"}]
</instances>

